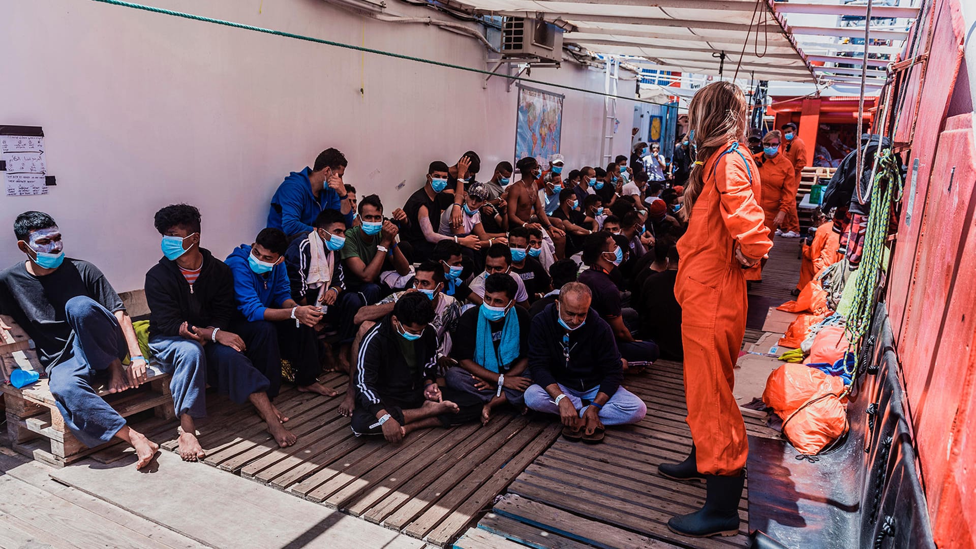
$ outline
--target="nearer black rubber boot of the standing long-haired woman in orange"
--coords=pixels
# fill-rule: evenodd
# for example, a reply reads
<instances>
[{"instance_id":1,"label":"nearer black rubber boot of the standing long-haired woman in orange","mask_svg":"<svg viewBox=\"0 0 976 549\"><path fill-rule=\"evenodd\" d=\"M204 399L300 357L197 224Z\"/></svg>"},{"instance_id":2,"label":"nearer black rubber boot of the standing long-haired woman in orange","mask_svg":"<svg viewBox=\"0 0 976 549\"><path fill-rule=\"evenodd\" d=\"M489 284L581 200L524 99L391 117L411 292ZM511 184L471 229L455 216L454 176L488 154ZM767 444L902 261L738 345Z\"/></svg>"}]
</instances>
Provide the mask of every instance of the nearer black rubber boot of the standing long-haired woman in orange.
<instances>
[{"instance_id":1,"label":"nearer black rubber boot of the standing long-haired woman in orange","mask_svg":"<svg viewBox=\"0 0 976 549\"><path fill-rule=\"evenodd\" d=\"M674 533L689 537L736 535L739 533L739 499L745 475L738 477L706 477L705 507L690 515L679 515L668 521Z\"/></svg>"}]
</instances>

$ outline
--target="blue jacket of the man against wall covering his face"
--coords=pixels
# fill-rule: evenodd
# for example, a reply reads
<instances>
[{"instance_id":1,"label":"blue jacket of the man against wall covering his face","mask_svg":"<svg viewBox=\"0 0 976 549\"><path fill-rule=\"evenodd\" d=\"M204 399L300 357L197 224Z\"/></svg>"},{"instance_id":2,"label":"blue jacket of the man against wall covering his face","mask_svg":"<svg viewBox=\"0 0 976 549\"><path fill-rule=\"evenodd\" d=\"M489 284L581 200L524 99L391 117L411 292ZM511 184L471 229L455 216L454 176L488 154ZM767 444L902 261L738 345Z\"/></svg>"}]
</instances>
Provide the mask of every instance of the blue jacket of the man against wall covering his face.
<instances>
[{"instance_id":1,"label":"blue jacket of the man against wall covering his face","mask_svg":"<svg viewBox=\"0 0 976 549\"><path fill-rule=\"evenodd\" d=\"M271 208L267 212L267 227L280 229L292 236L299 232L314 231L311 224L322 210L341 211L342 198L328 186L322 189L319 197L311 193L308 174L311 168L305 166L301 172L292 172L281 182L271 197ZM346 225L352 226L352 211L346 214ZM247 259L247 258L245 258Z\"/></svg>"}]
</instances>

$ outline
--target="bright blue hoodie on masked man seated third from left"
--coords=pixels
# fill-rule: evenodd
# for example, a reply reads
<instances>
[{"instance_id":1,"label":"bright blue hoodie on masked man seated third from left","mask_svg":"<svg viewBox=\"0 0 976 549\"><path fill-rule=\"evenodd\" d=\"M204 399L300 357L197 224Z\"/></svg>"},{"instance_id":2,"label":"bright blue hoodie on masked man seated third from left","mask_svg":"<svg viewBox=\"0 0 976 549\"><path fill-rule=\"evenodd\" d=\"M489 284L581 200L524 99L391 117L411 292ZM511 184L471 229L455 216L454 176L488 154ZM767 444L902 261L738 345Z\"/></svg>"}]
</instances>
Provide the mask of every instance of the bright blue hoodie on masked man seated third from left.
<instances>
[{"instance_id":1,"label":"bright blue hoodie on masked man seated third from left","mask_svg":"<svg viewBox=\"0 0 976 549\"><path fill-rule=\"evenodd\" d=\"M288 269L281 262L267 274L251 271L248 256L251 246L241 244L230 252L224 263L234 275L234 297L237 298L237 311L249 322L264 320L267 308L281 309L282 304L292 298L288 282Z\"/></svg>"}]
</instances>

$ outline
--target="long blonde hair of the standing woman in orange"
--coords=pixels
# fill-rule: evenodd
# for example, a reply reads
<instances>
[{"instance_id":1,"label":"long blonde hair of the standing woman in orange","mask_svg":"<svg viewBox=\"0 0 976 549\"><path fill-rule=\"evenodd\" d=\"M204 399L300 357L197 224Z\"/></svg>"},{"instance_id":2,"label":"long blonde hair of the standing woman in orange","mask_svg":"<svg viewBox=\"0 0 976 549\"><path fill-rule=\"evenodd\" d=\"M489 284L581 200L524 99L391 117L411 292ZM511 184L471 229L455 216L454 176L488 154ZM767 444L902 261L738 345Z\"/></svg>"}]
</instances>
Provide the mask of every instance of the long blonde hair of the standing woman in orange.
<instances>
[{"instance_id":1,"label":"long blonde hair of the standing woman in orange","mask_svg":"<svg viewBox=\"0 0 976 549\"><path fill-rule=\"evenodd\" d=\"M718 148L746 137L746 96L732 82L712 82L695 94L688 106L688 123L695 132L696 161L684 187L681 215L691 216L695 200L705 187L705 162Z\"/></svg>"}]
</instances>

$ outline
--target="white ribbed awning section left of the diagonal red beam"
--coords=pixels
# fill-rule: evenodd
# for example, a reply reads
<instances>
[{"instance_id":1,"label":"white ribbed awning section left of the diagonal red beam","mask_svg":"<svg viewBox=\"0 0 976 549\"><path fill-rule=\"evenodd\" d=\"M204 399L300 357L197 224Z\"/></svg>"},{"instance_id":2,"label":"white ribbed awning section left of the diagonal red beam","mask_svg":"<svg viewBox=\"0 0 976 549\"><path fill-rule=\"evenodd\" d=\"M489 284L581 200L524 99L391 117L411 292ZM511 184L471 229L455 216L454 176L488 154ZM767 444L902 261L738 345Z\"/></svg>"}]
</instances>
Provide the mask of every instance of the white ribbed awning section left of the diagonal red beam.
<instances>
[{"instance_id":1,"label":"white ribbed awning section left of the diagonal red beam","mask_svg":"<svg viewBox=\"0 0 976 549\"><path fill-rule=\"evenodd\" d=\"M565 30L566 43L598 54L637 56L674 70L725 77L735 72L741 55L740 77L814 81L765 0L460 2L483 15L553 22Z\"/></svg>"}]
</instances>

